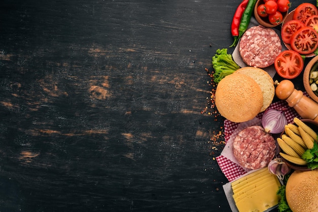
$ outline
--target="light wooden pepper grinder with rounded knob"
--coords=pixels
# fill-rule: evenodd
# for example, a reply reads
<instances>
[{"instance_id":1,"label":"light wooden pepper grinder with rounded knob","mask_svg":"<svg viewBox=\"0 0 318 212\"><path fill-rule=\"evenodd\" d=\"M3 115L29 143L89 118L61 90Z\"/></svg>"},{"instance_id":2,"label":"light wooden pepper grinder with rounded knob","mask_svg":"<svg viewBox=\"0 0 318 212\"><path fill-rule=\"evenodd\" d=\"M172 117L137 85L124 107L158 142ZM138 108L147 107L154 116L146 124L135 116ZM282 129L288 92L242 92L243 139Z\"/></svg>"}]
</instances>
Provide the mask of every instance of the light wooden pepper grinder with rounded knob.
<instances>
[{"instance_id":1,"label":"light wooden pepper grinder with rounded knob","mask_svg":"<svg viewBox=\"0 0 318 212\"><path fill-rule=\"evenodd\" d=\"M303 119L311 119L318 122L318 103L296 90L289 80L276 80L275 94L279 99L286 100L289 107L294 108Z\"/></svg>"}]
</instances>

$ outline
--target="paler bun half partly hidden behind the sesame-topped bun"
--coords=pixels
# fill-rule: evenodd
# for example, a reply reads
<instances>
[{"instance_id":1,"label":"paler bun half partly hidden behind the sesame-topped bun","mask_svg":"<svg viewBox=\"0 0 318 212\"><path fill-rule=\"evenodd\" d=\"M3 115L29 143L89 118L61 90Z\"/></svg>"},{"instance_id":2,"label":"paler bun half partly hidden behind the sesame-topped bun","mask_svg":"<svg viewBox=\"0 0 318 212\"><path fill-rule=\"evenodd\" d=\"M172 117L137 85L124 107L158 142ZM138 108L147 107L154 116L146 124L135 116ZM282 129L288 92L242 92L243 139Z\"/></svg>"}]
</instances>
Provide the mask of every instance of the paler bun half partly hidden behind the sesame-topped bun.
<instances>
[{"instance_id":1,"label":"paler bun half partly hidden behind the sesame-topped bun","mask_svg":"<svg viewBox=\"0 0 318 212\"><path fill-rule=\"evenodd\" d=\"M237 74L244 74L252 78L259 84L263 93L263 107L260 112L265 111L272 103L275 95L274 81L265 70L257 67L242 67L236 70Z\"/></svg>"}]
</instances>

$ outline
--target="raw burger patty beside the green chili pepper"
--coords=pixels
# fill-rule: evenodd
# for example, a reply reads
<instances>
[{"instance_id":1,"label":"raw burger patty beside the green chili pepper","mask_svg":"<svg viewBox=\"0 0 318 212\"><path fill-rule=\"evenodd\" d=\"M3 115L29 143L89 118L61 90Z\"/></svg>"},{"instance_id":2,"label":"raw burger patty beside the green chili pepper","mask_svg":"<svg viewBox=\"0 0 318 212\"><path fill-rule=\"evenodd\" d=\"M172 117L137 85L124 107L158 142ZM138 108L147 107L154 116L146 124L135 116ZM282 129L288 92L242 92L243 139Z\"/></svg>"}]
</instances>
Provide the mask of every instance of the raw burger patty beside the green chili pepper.
<instances>
[{"instance_id":1,"label":"raw burger patty beside the green chili pepper","mask_svg":"<svg viewBox=\"0 0 318 212\"><path fill-rule=\"evenodd\" d=\"M247 65L264 68L274 64L280 54L280 39L274 29L262 25L253 26L243 34L239 52Z\"/></svg>"}]
</instances>

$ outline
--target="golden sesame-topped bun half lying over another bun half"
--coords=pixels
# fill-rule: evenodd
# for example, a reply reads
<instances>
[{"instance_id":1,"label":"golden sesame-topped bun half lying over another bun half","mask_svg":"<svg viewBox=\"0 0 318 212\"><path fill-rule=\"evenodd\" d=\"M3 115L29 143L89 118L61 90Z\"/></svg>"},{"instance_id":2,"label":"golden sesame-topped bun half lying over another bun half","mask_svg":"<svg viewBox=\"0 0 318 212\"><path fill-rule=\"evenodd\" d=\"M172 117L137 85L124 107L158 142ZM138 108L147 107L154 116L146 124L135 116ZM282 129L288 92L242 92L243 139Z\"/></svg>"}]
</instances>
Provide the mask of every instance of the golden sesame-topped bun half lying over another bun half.
<instances>
[{"instance_id":1,"label":"golden sesame-topped bun half lying over another bun half","mask_svg":"<svg viewBox=\"0 0 318 212\"><path fill-rule=\"evenodd\" d=\"M231 74L223 78L215 91L215 105L221 116L232 122L255 118L263 107L263 93L247 75Z\"/></svg>"}]
</instances>

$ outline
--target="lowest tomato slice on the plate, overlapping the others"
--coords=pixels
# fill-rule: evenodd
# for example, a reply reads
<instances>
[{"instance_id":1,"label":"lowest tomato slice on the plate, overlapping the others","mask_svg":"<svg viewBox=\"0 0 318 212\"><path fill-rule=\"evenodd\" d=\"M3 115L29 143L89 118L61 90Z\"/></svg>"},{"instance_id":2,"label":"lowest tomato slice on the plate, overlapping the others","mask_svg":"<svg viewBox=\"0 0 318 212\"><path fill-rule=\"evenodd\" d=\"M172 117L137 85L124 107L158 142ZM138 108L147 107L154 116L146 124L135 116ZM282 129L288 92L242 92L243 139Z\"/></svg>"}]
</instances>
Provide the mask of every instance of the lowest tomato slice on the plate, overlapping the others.
<instances>
[{"instance_id":1,"label":"lowest tomato slice on the plate, overlapping the others","mask_svg":"<svg viewBox=\"0 0 318 212\"><path fill-rule=\"evenodd\" d=\"M318 33L312 27L298 29L291 38L292 50L299 54L310 54L318 47Z\"/></svg>"}]
</instances>

